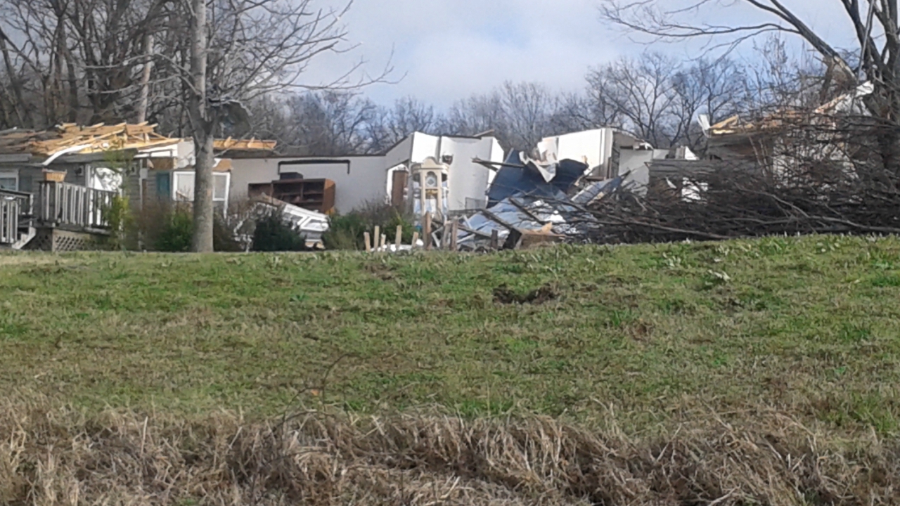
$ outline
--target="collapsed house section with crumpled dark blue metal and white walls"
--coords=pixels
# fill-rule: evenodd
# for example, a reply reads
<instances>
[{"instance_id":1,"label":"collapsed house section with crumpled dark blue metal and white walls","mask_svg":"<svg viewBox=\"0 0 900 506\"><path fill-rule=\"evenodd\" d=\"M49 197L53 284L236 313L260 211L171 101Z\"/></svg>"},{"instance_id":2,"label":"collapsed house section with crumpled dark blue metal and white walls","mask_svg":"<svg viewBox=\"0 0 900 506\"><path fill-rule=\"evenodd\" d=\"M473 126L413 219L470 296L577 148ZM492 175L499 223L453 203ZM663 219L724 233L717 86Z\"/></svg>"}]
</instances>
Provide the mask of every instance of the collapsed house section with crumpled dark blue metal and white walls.
<instances>
[{"instance_id":1,"label":"collapsed house section with crumpled dark blue metal and white walls","mask_svg":"<svg viewBox=\"0 0 900 506\"><path fill-rule=\"evenodd\" d=\"M653 161L696 158L688 149L654 149L613 128L547 138L534 155L514 151L503 163L478 160L497 174L488 208L453 225L457 248L519 248L579 235L591 226L583 212L591 203L621 188L646 193Z\"/></svg>"}]
</instances>

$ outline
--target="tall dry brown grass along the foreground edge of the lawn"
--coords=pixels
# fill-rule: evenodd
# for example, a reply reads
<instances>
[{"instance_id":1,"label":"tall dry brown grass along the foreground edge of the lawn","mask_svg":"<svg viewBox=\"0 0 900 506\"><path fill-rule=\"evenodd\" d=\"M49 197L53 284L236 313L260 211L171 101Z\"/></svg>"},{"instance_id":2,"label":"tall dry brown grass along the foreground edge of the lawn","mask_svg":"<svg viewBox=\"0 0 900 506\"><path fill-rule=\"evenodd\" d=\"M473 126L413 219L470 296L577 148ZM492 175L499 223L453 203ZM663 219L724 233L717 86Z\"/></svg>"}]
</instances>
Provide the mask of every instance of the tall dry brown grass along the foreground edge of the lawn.
<instances>
[{"instance_id":1,"label":"tall dry brown grass along the foreground edge of the lawn","mask_svg":"<svg viewBox=\"0 0 900 506\"><path fill-rule=\"evenodd\" d=\"M900 454L773 412L629 438L555 420L304 413L247 424L46 402L0 408L0 502L56 504L860 505L900 501Z\"/></svg>"}]
</instances>

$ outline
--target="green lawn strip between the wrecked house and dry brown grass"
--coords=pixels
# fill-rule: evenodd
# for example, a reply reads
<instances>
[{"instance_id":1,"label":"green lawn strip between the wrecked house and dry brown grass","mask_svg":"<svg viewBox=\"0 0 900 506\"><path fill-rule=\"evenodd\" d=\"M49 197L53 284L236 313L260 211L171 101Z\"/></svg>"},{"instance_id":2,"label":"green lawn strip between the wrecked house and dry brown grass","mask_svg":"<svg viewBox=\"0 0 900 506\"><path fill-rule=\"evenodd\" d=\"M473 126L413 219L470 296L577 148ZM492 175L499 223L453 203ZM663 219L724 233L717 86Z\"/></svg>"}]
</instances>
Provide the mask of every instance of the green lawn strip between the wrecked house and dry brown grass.
<instances>
[{"instance_id":1,"label":"green lawn strip between the wrecked house and dry brown grass","mask_svg":"<svg viewBox=\"0 0 900 506\"><path fill-rule=\"evenodd\" d=\"M0 255L0 391L265 417L439 405L641 429L685 406L893 434L900 240L491 256ZM494 288L542 304L504 304Z\"/></svg>"}]
</instances>

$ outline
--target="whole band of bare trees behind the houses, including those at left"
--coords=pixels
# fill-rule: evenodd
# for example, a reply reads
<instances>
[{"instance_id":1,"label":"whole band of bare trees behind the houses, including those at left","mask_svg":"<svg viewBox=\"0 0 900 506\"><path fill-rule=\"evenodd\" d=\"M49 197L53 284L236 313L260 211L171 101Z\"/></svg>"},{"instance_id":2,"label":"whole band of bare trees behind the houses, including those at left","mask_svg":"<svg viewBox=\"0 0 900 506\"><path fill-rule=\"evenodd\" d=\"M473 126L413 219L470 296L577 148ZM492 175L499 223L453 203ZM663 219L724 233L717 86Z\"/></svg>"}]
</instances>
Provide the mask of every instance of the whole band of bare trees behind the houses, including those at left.
<instances>
[{"instance_id":1,"label":"whole band of bare trees behind the houses, including those at left","mask_svg":"<svg viewBox=\"0 0 900 506\"><path fill-rule=\"evenodd\" d=\"M193 4L4 0L0 128L149 121L163 133L195 137ZM299 6L267 0L258 13L259 3L250 0L202 4L211 18L202 56L206 101L217 113L212 133L279 140L298 155L379 153L413 131L492 131L506 149L533 149L547 136L603 126L632 131L658 148L702 150L699 114L717 122L780 104L779 93L796 95L803 78L823 75L821 65L798 65L773 39L744 60L658 52L618 59L588 69L577 93L507 82L446 111L411 96L383 105L365 96L365 85L382 82L390 68L362 81L350 79L357 68L347 68L332 83L298 84L311 59L346 50L340 12L323 14L311 0Z\"/></svg>"}]
</instances>

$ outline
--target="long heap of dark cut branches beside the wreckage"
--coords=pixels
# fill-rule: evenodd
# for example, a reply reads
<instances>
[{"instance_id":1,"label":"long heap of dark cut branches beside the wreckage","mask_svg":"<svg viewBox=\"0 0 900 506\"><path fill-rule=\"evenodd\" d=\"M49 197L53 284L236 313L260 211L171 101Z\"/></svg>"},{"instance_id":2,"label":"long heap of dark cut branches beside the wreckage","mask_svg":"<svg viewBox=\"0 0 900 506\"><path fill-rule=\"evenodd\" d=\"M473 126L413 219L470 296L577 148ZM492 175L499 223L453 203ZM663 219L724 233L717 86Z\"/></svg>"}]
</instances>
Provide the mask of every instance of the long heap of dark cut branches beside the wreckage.
<instances>
[{"instance_id":1,"label":"long heap of dark cut branches beside the wreckage","mask_svg":"<svg viewBox=\"0 0 900 506\"><path fill-rule=\"evenodd\" d=\"M822 149L811 144L803 152ZM833 144L832 144L833 146ZM854 150L864 152L860 146ZM718 240L779 234L898 234L897 172L882 163L843 158L780 158L773 174L720 163L704 175L665 178L644 195L620 192L587 212L599 226L588 239L637 243ZM672 187L675 186L675 187ZM682 187L697 188L690 198Z\"/></svg>"}]
</instances>

